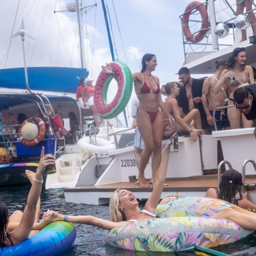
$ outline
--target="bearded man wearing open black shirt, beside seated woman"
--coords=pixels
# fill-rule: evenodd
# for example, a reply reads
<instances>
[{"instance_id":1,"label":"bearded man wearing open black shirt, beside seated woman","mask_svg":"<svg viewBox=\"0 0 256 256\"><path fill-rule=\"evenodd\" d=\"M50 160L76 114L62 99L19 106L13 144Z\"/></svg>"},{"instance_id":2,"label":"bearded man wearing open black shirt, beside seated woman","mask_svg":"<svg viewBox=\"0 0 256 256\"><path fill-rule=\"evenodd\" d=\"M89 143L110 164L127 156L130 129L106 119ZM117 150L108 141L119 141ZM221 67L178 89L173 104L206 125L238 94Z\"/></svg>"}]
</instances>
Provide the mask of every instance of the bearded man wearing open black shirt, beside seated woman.
<instances>
[{"instance_id":1,"label":"bearded man wearing open black shirt, beside seated woman","mask_svg":"<svg viewBox=\"0 0 256 256\"><path fill-rule=\"evenodd\" d=\"M209 125L206 118L206 113L202 105L202 86L204 80L191 78L189 69L182 67L179 72L179 80L184 84L180 88L180 94L177 96L178 106L182 108L185 115L187 115L194 108L200 112L202 129L208 130ZM206 134L208 132L206 131Z\"/></svg>"}]
</instances>

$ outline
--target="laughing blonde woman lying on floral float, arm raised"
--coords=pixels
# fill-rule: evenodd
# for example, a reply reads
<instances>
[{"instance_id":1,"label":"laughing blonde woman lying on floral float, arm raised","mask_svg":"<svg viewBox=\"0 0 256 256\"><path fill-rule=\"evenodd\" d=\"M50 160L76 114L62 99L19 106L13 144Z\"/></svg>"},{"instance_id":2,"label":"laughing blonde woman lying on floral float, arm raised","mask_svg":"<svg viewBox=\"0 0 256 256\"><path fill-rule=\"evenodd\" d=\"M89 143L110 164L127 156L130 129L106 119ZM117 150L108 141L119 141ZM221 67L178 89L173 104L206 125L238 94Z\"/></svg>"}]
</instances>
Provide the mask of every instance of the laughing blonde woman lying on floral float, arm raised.
<instances>
[{"instance_id":1,"label":"laughing blonde woman lying on floral float, arm raised","mask_svg":"<svg viewBox=\"0 0 256 256\"><path fill-rule=\"evenodd\" d=\"M143 221L146 219L156 218L156 207L163 191L163 184L165 181L167 165L169 161L169 153L170 142L165 146L163 150L163 156L156 176L155 186L143 210L139 210L139 203L131 191L126 189L116 189L109 201L110 221L96 218L90 215L63 215L50 210L44 213L43 218L51 218L52 221L69 221L73 223L93 225L99 228L104 228L106 230L111 230L112 228L116 228L124 224L129 224L134 221ZM209 202L210 204L212 203L211 201ZM222 202L223 201L220 203ZM204 207L206 207L205 204ZM213 214L210 218L229 219L236 222L245 229L256 230L255 213L243 210L236 205L227 205L226 208Z\"/></svg>"}]
</instances>

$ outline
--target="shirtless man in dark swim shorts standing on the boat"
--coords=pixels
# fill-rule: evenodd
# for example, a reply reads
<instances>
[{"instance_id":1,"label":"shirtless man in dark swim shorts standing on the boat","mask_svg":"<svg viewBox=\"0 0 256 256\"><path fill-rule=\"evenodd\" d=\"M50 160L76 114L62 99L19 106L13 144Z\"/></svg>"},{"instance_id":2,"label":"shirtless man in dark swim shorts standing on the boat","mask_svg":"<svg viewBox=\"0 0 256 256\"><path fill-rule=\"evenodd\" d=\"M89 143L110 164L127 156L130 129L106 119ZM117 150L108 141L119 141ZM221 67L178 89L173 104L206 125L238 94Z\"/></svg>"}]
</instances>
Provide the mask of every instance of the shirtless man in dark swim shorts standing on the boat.
<instances>
[{"instance_id":1,"label":"shirtless man in dark swim shorts standing on the boat","mask_svg":"<svg viewBox=\"0 0 256 256\"><path fill-rule=\"evenodd\" d=\"M224 59L219 59L216 60L215 63L216 72L213 76L210 76L204 80L202 89L202 103L204 106L204 111L206 113L207 122L211 130L215 130L212 116L213 110L215 108L225 106L224 100L228 98L228 96L230 95L230 89L226 84L223 85L223 89L221 89L221 91L219 91L217 95L213 93L214 87L219 81L219 77L221 76L221 73L223 69L225 69L225 66L227 65L228 62ZM221 130L222 128L224 128L225 130L230 129L230 122L228 121L227 109L223 109L222 111L216 111L215 120L217 130Z\"/></svg>"}]
</instances>

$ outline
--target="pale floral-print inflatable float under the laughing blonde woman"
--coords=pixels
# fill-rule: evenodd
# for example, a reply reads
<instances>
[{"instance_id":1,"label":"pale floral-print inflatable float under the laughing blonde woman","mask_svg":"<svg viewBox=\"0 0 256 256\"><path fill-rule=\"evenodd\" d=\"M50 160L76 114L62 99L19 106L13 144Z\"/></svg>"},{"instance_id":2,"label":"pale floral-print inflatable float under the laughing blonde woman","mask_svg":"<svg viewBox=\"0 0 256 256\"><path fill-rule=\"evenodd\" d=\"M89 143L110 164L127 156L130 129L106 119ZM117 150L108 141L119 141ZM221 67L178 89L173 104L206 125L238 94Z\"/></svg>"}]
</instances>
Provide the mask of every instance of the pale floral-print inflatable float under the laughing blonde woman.
<instances>
[{"instance_id":1,"label":"pale floral-print inflatable float under the laughing blonde woman","mask_svg":"<svg viewBox=\"0 0 256 256\"><path fill-rule=\"evenodd\" d=\"M233 243L252 231L227 219L208 218L232 204L206 197L167 197L156 209L157 217L114 228L106 242L115 247L153 252L193 250Z\"/></svg>"}]
</instances>

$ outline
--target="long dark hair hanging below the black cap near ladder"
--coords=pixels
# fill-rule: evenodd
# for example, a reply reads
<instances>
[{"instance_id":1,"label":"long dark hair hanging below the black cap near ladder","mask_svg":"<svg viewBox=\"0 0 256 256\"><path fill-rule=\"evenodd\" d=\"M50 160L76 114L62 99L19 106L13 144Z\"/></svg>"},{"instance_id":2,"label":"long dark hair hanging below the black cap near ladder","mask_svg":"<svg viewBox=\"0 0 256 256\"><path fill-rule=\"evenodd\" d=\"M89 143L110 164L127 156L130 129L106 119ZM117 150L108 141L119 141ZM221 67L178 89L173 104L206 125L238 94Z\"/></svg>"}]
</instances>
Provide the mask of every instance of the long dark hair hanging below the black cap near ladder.
<instances>
[{"instance_id":1,"label":"long dark hair hanging below the black cap near ladder","mask_svg":"<svg viewBox=\"0 0 256 256\"><path fill-rule=\"evenodd\" d=\"M236 194L239 193L239 198L242 199L243 188L243 184L235 185L234 183L230 183L229 180L221 179L221 182L219 184L220 191L218 193L218 198L238 205Z\"/></svg>"}]
</instances>

